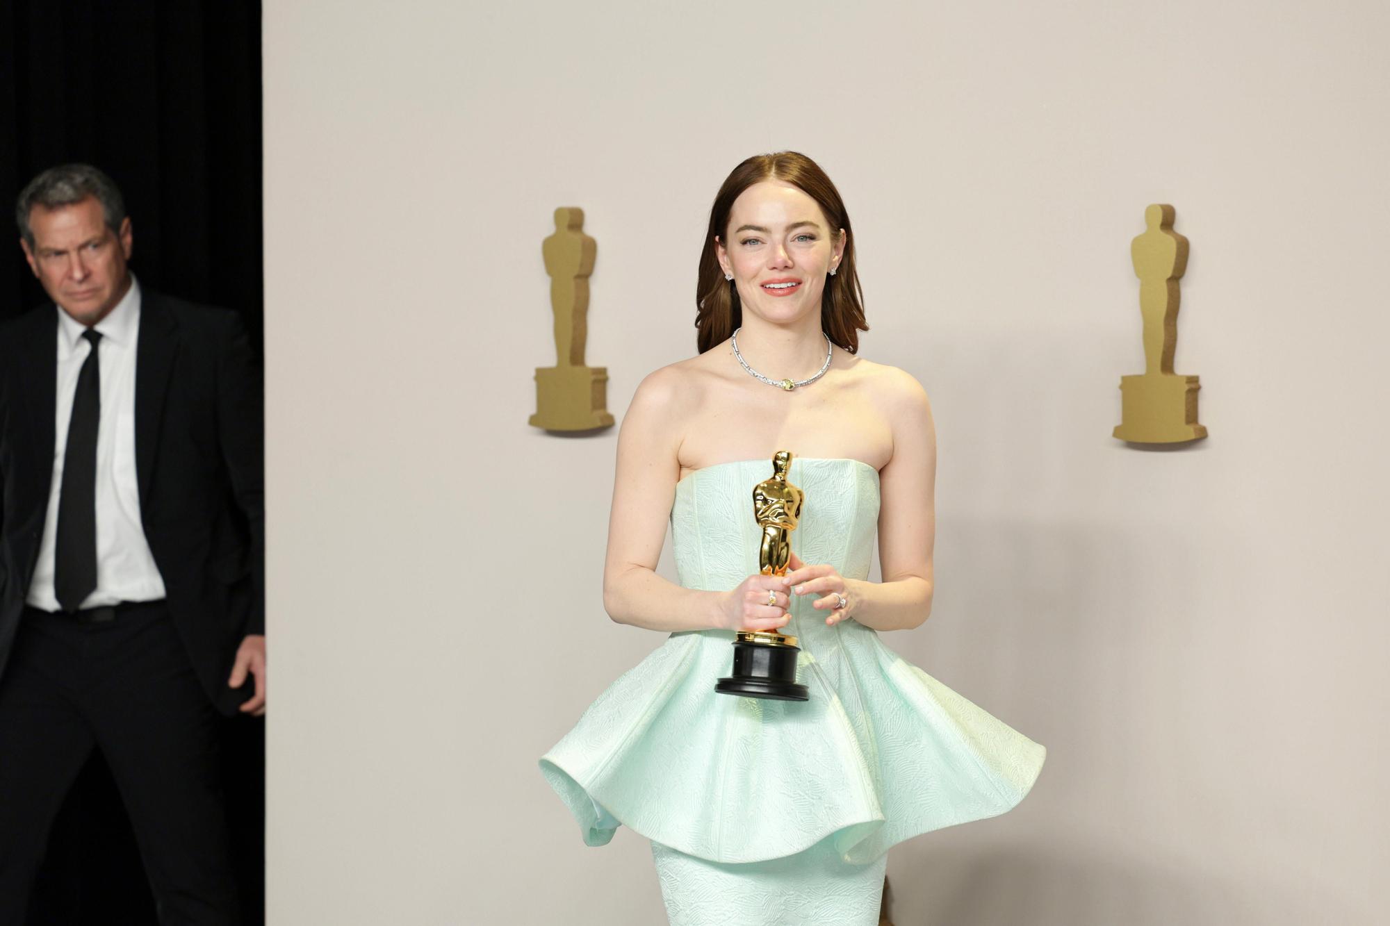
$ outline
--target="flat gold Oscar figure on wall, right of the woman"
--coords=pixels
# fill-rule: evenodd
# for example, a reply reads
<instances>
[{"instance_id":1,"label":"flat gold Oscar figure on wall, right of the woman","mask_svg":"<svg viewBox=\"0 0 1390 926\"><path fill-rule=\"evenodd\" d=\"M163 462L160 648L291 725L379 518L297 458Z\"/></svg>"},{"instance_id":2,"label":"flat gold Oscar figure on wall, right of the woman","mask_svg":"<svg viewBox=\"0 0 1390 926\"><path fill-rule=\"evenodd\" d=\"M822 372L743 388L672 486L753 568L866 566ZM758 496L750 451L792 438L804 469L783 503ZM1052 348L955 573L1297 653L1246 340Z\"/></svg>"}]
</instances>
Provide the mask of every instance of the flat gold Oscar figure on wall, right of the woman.
<instances>
[{"instance_id":1,"label":"flat gold Oscar figure on wall, right of the woman","mask_svg":"<svg viewBox=\"0 0 1390 926\"><path fill-rule=\"evenodd\" d=\"M1144 373L1120 377L1115 437L1136 444L1183 444L1207 437L1197 423L1197 377L1173 373L1177 350L1177 281L1187 270L1187 239L1173 231L1173 207L1144 210L1148 229L1130 245L1144 314Z\"/></svg>"}]
</instances>

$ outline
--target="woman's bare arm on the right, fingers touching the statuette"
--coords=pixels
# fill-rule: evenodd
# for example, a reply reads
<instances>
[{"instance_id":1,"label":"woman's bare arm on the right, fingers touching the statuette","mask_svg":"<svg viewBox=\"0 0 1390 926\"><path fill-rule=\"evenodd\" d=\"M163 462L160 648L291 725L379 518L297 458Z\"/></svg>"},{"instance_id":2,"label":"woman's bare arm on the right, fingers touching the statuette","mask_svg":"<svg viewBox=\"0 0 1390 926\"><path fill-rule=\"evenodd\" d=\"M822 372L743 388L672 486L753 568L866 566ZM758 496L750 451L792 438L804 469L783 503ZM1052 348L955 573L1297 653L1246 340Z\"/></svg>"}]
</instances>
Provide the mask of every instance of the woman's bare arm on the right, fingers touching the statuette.
<instances>
[{"instance_id":1,"label":"woman's bare arm on the right, fingers touching the statuette","mask_svg":"<svg viewBox=\"0 0 1390 926\"><path fill-rule=\"evenodd\" d=\"M937 432L931 405L922 385L902 370L885 371L883 403L892 427L892 457L878 471L878 563L881 583L845 578L844 594L849 601L845 615L874 630L910 630L931 613L935 583L931 571L931 548L935 542ZM817 569L808 567L808 576ZM794 581L801 577L788 576ZM833 594L826 591L834 577L810 580L809 594L817 594L816 608L837 623L841 612L833 610Z\"/></svg>"}]
</instances>

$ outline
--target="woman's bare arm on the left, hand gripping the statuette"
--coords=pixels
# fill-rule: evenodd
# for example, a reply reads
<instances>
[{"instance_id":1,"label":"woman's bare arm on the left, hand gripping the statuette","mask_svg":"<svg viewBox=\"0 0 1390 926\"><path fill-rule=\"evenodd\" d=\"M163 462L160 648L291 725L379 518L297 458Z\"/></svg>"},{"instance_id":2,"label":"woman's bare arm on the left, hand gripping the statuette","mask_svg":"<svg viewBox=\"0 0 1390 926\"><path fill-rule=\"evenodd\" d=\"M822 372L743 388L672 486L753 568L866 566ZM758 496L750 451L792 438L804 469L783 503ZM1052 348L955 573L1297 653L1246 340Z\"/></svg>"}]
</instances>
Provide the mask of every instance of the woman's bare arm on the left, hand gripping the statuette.
<instances>
[{"instance_id":1,"label":"woman's bare arm on the left, hand gripping the statuette","mask_svg":"<svg viewBox=\"0 0 1390 926\"><path fill-rule=\"evenodd\" d=\"M695 389L673 367L651 374L623 417L603 563L603 608L620 624L666 633L781 627L788 599L776 577L749 577L733 591L712 592L682 588L656 574L681 469L681 423L696 402ZM773 585L780 606L758 603L767 601Z\"/></svg>"}]
</instances>

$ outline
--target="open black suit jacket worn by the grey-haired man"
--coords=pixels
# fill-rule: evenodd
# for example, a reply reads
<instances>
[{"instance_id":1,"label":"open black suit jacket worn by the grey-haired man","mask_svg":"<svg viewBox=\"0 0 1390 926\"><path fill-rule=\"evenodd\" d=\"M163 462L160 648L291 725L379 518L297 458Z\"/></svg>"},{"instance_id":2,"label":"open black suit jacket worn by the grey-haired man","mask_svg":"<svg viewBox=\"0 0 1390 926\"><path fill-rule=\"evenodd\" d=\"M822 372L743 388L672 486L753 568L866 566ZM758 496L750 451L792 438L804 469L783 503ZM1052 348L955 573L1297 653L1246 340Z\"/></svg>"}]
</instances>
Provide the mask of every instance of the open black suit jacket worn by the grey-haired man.
<instances>
[{"instance_id":1,"label":"open black suit jacket worn by the grey-haired man","mask_svg":"<svg viewBox=\"0 0 1390 926\"><path fill-rule=\"evenodd\" d=\"M53 478L58 309L0 325L0 676L29 591ZM227 687L265 627L261 377L240 318L140 292L135 464L140 519L203 688Z\"/></svg>"}]
</instances>

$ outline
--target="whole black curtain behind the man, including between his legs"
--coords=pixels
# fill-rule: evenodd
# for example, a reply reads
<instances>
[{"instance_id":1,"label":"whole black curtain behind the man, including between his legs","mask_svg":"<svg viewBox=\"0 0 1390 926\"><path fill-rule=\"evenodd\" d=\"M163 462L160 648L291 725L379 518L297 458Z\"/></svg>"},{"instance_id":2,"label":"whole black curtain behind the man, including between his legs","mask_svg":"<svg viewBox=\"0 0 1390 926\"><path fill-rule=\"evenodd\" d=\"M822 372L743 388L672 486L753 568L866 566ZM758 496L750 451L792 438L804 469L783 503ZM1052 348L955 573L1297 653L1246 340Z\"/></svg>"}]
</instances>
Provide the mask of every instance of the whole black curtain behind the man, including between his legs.
<instances>
[{"instance_id":1,"label":"whole black curtain behind the man, including between his legs","mask_svg":"<svg viewBox=\"0 0 1390 926\"><path fill-rule=\"evenodd\" d=\"M0 318L44 300L10 218L15 197L43 168L86 161L125 195L140 285L236 309L260 343L260 67L259 0L0 3L0 221L11 229ZM224 755L246 922L261 923L263 722L229 720ZM156 922L99 756L54 825L32 907L33 923Z\"/></svg>"}]
</instances>

